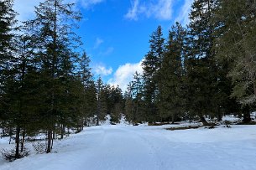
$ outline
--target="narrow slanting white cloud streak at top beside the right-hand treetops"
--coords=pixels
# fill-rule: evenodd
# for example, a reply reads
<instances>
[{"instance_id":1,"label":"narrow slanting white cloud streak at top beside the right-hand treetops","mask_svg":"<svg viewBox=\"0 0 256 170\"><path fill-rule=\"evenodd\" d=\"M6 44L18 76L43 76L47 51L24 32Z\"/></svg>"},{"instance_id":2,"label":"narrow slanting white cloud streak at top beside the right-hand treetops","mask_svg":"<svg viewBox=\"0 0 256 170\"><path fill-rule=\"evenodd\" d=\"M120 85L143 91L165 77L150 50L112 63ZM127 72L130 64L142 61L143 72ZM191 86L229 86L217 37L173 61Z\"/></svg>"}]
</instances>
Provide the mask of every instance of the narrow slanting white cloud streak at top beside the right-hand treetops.
<instances>
[{"instance_id":1,"label":"narrow slanting white cloud streak at top beside the right-hand treetops","mask_svg":"<svg viewBox=\"0 0 256 170\"><path fill-rule=\"evenodd\" d=\"M183 25L188 24L190 22L189 13L191 12L192 3L193 3L193 0L185 0L184 5L180 9L180 13L178 17L175 18L175 21L178 21Z\"/></svg>"}]
</instances>

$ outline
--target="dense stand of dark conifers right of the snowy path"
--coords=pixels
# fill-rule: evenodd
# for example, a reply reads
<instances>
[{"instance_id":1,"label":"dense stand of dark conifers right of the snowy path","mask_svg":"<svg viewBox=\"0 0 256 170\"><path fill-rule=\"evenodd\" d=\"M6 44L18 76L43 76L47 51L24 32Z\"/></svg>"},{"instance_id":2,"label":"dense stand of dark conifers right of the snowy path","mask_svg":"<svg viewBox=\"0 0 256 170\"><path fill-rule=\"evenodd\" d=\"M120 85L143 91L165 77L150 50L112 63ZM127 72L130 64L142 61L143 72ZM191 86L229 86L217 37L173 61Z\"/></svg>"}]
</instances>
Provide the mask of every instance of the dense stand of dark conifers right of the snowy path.
<instances>
[{"instance_id":1,"label":"dense stand of dark conifers right of the snowy path","mask_svg":"<svg viewBox=\"0 0 256 170\"><path fill-rule=\"evenodd\" d=\"M195 0L190 23L159 26L149 39L143 73L125 92L129 121L251 121L256 101L256 2Z\"/></svg>"}]
</instances>

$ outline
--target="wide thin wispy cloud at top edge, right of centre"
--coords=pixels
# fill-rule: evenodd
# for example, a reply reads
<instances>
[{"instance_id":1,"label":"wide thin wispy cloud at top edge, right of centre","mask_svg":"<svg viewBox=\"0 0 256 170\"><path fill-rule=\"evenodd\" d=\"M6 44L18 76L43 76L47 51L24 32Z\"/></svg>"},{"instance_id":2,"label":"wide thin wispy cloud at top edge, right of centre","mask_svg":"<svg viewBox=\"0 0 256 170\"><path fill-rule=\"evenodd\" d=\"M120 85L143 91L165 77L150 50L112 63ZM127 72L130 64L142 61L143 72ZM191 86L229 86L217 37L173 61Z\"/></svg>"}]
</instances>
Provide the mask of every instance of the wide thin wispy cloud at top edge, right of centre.
<instances>
[{"instance_id":1,"label":"wide thin wispy cloud at top edge, right of centre","mask_svg":"<svg viewBox=\"0 0 256 170\"><path fill-rule=\"evenodd\" d=\"M147 18L158 18L160 20L170 20L172 17L173 0L153 0L139 1L133 0L132 7L128 9L125 18L130 20L138 20L139 15Z\"/></svg>"}]
</instances>

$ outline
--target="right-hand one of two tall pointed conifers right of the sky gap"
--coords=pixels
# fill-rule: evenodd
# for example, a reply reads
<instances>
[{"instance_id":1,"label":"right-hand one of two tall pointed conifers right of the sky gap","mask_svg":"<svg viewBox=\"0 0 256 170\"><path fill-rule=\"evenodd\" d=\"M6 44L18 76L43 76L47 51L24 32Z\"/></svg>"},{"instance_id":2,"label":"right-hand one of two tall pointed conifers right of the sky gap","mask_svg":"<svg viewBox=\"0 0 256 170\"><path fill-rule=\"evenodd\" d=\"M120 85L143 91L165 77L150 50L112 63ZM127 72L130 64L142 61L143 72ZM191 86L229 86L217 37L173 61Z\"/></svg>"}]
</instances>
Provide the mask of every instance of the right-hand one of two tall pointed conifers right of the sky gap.
<instances>
[{"instance_id":1,"label":"right-hand one of two tall pointed conifers right of the sky gap","mask_svg":"<svg viewBox=\"0 0 256 170\"><path fill-rule=\"evenodd\" d=\"M159 69L159 112L161 119L168 119L174 123L176 116L185 112L185 28L176 23L169 33L163 63Z\"/></svg>"}]
</instances>

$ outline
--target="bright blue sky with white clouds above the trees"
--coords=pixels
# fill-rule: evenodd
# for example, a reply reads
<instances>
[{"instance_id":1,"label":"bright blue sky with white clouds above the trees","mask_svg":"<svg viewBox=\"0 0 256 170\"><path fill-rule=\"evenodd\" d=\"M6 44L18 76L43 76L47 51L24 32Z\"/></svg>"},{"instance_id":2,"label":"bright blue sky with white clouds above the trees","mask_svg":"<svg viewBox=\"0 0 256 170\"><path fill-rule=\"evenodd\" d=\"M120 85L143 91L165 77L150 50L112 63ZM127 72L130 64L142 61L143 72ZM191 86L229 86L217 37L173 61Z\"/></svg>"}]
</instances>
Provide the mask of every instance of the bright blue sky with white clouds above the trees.
<instances>
[{"instance_id":1,"label":"bright blue sky with white clouds above the trees","mask_svg":"<svg viewBox=\"0 0 256 170\"><path fill-rule=\"evenodd\" d=\"M65 0L76 3L83 19L77 33L97 78L124 90L133 73L142 72L149 35L161 25L165 37L175 21L188 22L192 0ZM18 19L31 18L43 0L14 0Z\"/></svg>"}]
</instances>

